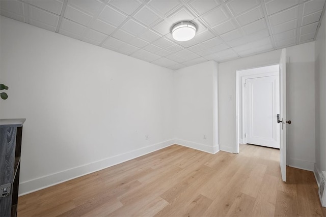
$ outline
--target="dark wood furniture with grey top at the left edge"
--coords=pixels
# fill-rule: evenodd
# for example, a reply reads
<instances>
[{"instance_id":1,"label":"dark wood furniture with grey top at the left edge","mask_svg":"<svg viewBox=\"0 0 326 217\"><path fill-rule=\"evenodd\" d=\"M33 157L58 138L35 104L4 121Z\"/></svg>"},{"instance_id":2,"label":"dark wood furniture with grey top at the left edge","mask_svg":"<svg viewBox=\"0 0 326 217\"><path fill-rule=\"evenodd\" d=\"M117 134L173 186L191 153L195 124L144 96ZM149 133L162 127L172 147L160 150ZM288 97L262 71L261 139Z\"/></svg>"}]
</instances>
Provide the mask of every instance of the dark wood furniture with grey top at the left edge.
<instances>
[{"instance_id":1,"label":"dark wood furniture with grey top at the left edge","mask_svg":"<svg viewBox=\"0 0 326 217\"><path fill-rule=\"evenodd\" d=\"M0 216L17 216L22 125L0 119Z\"/></svg>"}]
</instances>

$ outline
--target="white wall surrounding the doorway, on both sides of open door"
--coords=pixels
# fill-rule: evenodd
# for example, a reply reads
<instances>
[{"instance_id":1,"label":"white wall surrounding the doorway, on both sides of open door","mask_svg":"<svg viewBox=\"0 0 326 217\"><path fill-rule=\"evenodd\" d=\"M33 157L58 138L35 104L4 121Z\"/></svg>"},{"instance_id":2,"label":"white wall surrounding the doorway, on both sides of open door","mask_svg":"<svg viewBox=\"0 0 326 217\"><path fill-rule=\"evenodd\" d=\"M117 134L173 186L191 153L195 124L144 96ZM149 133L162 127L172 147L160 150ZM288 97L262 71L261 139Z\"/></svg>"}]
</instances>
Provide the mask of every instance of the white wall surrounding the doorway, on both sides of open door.
<instances>
[{"instance_id":1,"label":"white wall surrounding the doorway, on both sides of open door","mask_svg":"<svg viewBox=\"0 0 326 217\"><path fill-rule=\"evenodd\" d=\"M315 162L314 42L287 48L287 164L313 170ZM280 51L271 51L219 65L221 150L236 149L236 70L278 64Z\"/></svg>"}]
</instances>

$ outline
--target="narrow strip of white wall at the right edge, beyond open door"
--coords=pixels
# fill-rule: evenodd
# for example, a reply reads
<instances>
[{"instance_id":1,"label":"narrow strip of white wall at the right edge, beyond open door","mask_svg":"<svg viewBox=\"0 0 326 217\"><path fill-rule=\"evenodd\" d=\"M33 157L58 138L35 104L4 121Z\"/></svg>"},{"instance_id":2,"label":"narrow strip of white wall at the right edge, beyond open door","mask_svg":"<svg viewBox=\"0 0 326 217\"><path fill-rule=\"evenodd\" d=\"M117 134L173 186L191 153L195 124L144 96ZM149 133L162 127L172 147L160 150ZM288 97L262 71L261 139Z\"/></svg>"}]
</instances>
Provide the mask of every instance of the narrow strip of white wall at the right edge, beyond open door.
<instances>
[{"instance_id":1,"label":"narrow strip of white wall at the right edge, beyond open door","mask_svg":"<svg viewBox=\"0 0 326 217\"><path fill-rule=\"evenodd\" d=\"M326 171L326 20L315 41L316 172Z\"/></svg>"}]
</instances>

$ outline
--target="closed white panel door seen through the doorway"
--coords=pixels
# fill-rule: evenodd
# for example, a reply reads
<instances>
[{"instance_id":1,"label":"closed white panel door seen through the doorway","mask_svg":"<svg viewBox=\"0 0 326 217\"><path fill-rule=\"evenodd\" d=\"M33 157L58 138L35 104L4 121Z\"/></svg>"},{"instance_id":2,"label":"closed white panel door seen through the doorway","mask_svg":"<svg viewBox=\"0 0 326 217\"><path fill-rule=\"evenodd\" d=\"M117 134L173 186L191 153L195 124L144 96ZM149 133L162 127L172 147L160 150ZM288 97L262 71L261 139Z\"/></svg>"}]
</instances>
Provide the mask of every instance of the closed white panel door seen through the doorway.
<instances>
[{"instance_id":1,"label":"closed white panel door seen through the doorway","mask_svg":"<svg viewBox=\"0 0 326 217\"><path fill-rule=\"evenodd\" d=\"M278 72L244 82L246 143L280 148Z\"/></svg>"}]
</instances>

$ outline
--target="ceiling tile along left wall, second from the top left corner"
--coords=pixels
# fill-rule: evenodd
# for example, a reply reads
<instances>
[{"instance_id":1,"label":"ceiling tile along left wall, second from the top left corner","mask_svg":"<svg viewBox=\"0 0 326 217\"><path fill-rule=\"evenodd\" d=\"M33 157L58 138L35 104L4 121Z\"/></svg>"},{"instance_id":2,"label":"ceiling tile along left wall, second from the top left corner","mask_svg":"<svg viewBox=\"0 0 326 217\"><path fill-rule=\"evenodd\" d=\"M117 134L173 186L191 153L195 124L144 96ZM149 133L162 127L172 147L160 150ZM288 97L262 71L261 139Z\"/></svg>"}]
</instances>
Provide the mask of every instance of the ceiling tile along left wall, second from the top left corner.
<instances>
[{"instance_id":1,"label":"ceiling tile along left wall, second from the top left corner","mask_svg":"<svg viewBox=\"0 0 326 217\"><path fill-rule=\"evenodd\" d=\"M30 24L52 32L56 31L59 21L59 15L52 14L33 6L29 6L29 18Z\"/></svg>"}]
</instances>

